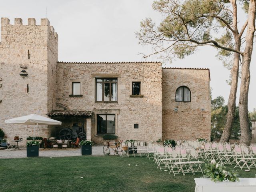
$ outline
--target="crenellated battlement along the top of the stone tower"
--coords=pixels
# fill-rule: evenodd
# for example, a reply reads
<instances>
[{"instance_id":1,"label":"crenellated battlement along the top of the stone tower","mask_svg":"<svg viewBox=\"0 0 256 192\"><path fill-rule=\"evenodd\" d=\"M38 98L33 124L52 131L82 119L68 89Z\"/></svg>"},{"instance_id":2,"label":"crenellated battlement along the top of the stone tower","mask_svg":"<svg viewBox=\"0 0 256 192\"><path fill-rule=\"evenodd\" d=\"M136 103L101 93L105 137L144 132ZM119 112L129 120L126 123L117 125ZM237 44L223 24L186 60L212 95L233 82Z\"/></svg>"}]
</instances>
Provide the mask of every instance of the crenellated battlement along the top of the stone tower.
<instances>
[{"instance_id":1,"label":"crenellated battlement along the top of the stone tower","mask_svg":"<svg viewBox=\"0 0 256 192\"><path fill-rule=\"evenodd\" d=\"M22 18L15 18L14 19L14 25L10 24L9 18L1 18L1 32L4 32L3 27L4 26L49 26L51 32L54 34L54 36L58 39L58 34L54 32L54 27L50 25L50 21L47 18L41 19L41 24L36 25L36 19L35 18L28 18L28 24L24 25Z\"/></svg>"}]
</instances>

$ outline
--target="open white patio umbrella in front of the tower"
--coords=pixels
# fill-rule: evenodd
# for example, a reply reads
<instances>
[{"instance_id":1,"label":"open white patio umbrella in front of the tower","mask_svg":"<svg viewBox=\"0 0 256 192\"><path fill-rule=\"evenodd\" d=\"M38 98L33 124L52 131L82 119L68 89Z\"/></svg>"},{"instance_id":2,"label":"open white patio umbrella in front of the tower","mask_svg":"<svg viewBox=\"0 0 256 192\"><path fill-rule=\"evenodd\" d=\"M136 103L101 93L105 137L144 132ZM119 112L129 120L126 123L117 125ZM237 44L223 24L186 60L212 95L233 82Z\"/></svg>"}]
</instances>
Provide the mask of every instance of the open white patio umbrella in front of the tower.
<instances>
[{"instance_id":1,"label":"open white patio umbrella in front of the tower","mask_svg":"<svg viewBox=\"0 0 256 192\"><path fill-rule=\"evenodd\" d=\"M60 121L50 119L37 114L30 114L22 117L8 119L4 121L10 124L22 124L22 125L61 125ZM34 127L34 140L35 140L35 127Z\"/></svg>"}]
</instances>

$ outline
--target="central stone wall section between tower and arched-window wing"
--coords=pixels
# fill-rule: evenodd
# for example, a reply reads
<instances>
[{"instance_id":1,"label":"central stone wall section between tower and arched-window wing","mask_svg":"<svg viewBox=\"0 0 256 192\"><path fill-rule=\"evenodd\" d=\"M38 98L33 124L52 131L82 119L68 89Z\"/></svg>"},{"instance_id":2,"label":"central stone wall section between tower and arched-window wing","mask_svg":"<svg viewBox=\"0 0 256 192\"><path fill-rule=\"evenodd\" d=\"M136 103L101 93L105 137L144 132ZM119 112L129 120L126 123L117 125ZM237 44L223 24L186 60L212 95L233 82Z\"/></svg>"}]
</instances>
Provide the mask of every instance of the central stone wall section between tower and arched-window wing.
<instances>
[{"instance_id":1,"label":"central stone wall section between tower and arched-window wing","mask_svg":"<svg viewBox=\"0 0 256 192\"><path fill-rule=\"evenodd\" d=\"M57 63L57 109L91 110L92 140L97 135L96 114L116 114L116 134L120 140L158 140L162 138L162 64L133 63ZM118 102L95 102L96 78L118 79ZM82 97L69 97L72 82L81 82ZM141 81L143 98L132 98L132 82ZM138 123L139 128L134 129Z\"/></svg>"}]
</instances>

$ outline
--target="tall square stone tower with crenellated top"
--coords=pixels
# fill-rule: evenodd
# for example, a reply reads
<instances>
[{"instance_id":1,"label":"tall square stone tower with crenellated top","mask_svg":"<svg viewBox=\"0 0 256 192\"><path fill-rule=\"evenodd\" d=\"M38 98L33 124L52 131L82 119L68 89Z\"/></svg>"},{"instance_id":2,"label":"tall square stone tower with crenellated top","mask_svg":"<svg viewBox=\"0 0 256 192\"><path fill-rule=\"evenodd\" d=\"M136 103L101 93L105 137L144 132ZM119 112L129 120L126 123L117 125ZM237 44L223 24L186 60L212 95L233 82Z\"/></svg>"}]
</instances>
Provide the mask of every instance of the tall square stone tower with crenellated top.
<instances>
[{"instance_id":1,"label":"tall square stone tower with crenellated top","mask_svg":"<svg viewBox=\"0 0 256 192\"><path fill-rule=\"evenodd\" d=\"M55 108L57 61L58 34L48 19L36 25L29 18L28 25L23 25L21 18L15 18L14 24L1 18L0 128L8 138L32 136L33 128L4 120L32 113L45 116ZM37 126L35 132L49 135L47 126Z\"/></svg>"}]
</instances>

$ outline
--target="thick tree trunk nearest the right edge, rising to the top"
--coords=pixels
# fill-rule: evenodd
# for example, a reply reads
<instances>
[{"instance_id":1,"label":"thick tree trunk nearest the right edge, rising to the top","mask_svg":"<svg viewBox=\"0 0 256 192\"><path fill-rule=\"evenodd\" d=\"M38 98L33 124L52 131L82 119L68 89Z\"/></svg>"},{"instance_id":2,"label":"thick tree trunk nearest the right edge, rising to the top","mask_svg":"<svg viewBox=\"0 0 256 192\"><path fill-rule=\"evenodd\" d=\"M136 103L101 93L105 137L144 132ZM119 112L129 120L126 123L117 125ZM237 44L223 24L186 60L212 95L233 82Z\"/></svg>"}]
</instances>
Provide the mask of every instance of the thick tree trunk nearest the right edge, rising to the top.
<instances>
[{"instance_id":1,"label":"thick tree trunk nearest the right edge, rising to the top","mask_svg":"<svg viewBox=\"0 0 256 192\"><path fill-rule=\"evenodd\" d=\"M248 92L250 84L250 62L255 32L256 0L250 0L248 11L248 24L246 32L246 46L242 56L242 76L239 97L239 118L240 118L240 144L250 145L251 131L248 118Z\"/></svg>"}]
</instances>

